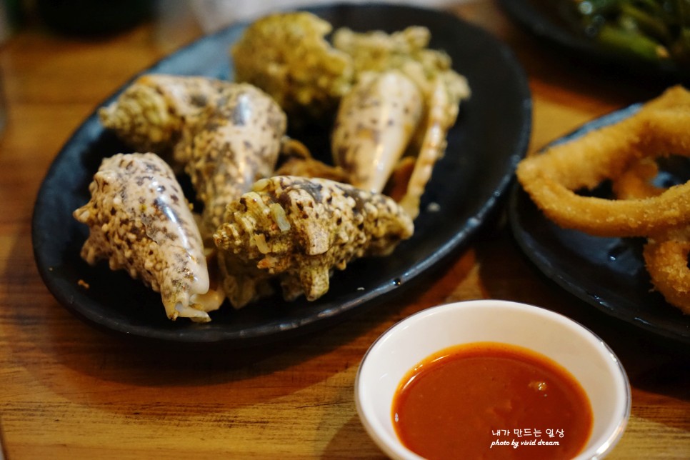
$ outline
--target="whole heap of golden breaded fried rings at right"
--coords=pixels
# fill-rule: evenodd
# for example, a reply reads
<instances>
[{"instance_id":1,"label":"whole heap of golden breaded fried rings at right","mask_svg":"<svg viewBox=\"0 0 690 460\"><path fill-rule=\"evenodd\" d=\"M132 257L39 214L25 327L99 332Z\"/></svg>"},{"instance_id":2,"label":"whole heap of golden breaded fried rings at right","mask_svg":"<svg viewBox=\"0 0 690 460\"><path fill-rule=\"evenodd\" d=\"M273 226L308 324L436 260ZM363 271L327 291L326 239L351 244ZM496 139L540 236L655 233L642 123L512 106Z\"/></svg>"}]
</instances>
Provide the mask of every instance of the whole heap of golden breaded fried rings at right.
<instances>
[{"instance_id":1,"label":"whole heap of golden breaded fried rings at right","mask_svg":"<svg viewBox=\"0 0 690 460\"><path fill-rule=\"evenodd\" d=\"M559 226L646 239L652 286L684 314L690 313L690 185L654 179L657 159L690 154L689 123L690 91L674 86L628 118L529 156L516 170L532 201ZM604 181L613 196L586 193Z\"/></svg>"}]
</instances>

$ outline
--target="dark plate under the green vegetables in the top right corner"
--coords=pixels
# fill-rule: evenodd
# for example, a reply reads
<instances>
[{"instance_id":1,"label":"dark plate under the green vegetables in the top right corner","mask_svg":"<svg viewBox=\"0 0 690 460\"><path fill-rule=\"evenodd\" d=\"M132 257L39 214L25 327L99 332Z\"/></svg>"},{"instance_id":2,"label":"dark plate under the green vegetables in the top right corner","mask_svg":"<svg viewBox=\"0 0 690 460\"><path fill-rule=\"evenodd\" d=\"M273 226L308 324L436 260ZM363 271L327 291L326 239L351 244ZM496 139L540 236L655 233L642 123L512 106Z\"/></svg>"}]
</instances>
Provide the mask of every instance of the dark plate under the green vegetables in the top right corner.
<instances>
[{"instance_id":1,"label":"dark plate under the green vegetables in the top right corner","mask_svg":"<svg viewBox=\"0 0 690 460\"><path fill-rule=\"evenodd\" d=\"M654 64L611 51L589 39L579 27L574 11L568 8L568 1L499 0L499 5L516 24L551 44L571 51L583 63L594 61L620 75L631 73L666 83L690 80L688 71L679 69L672 62Z\"/></svg>"}]
</instances>

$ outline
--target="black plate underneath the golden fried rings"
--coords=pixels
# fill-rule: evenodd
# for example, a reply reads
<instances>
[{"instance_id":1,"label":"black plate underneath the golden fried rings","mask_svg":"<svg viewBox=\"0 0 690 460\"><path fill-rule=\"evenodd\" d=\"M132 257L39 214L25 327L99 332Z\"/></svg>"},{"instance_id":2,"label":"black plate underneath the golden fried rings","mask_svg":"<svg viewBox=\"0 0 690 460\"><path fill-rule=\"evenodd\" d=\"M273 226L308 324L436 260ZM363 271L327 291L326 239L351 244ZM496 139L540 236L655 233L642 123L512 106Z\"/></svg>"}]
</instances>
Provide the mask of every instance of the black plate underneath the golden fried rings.
<instances>
[{"instance_id":1,"label":"black plate underneath the golden fried rings","mask_svg":"<svg viewBox=\"0 0 690 460\"><path fill-rule=\"evenodd\" d=\"M640 104L635 104L602 116L556 143L625 119L639 108ZM676 174L686 180L687 162L677 166ZM542 214L517 182L511 190L508 216L512 234L524 254L570 294L641 329L690 343L690 316L651 290L642 259L644 239L601 238L563 229Z\"/></svg>"}]
</instances>

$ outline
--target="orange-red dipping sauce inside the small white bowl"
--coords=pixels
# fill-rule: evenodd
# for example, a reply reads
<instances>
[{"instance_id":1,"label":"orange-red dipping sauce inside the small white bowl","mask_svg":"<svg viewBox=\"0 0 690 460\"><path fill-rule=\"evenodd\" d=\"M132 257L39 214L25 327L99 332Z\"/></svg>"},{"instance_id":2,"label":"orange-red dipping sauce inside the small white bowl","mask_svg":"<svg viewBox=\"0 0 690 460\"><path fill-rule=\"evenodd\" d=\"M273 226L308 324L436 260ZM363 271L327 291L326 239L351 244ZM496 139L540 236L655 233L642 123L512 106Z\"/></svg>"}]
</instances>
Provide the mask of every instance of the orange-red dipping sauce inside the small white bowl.
<instances>
[{"instance_id":1,"label":"orange-red dipping sauce inside the small white bowl","mask_svg":"<svg viewBox=\"0 0 690 460\"><path fill-rule=\"evenodd\" d=\"M439 351L401 381L392 416L427 459L570 459L592 429L578 381L534 351L477 342Z\"/></svg>"}]
</instances>

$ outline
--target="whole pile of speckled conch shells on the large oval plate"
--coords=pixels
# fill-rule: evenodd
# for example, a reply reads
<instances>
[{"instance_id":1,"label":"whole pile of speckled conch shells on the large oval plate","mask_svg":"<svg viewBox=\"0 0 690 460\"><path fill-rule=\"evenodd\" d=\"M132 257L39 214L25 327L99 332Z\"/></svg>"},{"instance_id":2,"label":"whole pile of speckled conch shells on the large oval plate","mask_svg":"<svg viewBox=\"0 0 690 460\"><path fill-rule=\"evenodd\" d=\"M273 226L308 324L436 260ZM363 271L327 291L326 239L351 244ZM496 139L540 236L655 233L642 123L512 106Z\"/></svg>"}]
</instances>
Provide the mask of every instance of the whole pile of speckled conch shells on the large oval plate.
<instances>
[{"instance_id":1,"label":"whole pile of speckled conch shells on the large oval plate","mask_svg":"<svg viewBox=\"0 0 690 460\"><path fill-rule=\"evenodd\" d=\"M334 271L411 238L469 86L424 27L341 28L332 45L329 31L311 13L266 16L229 49L235 81L144 74L99 109L131 153L103 160L74 211L84 260L159 291L169 319L210 321L225 301L319 299ZM327 78L305 80L316 68ZM330 120L330 164L286 134L314 116Z\"/></svg>"}]
</instances>

